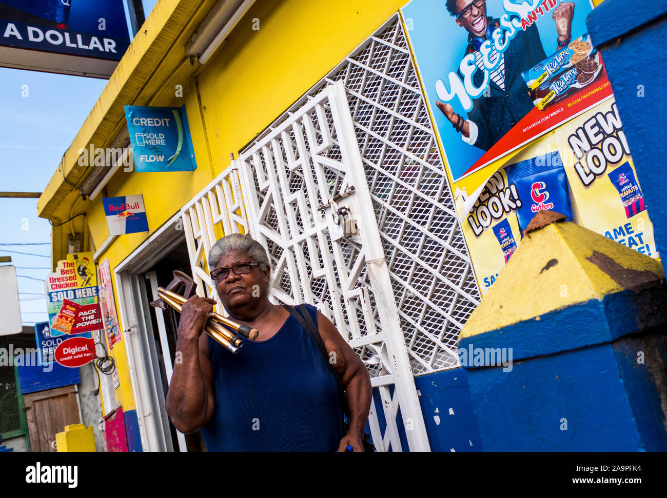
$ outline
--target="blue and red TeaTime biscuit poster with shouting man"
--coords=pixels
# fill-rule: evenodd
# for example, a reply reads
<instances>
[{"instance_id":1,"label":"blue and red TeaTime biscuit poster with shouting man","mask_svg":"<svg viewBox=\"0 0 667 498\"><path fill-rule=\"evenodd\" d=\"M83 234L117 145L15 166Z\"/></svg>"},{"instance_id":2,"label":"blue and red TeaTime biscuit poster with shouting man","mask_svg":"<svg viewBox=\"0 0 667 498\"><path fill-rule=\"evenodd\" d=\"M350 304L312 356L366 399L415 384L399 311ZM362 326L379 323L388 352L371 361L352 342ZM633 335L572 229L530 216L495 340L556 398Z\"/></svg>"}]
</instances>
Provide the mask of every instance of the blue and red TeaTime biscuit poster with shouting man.
<instances>
[{"instance_id":1,"label":"blue and red TeaTime biscuit poster with shouting man","mask_svg":"<svg viewBox=\"0 0 667 498\"><path fill-rule=\"evenodd\" d=\"M402 9L452 181L611 97L586 33L590 11L589 0L412 0Z\"/></svg>"}]
</instances>

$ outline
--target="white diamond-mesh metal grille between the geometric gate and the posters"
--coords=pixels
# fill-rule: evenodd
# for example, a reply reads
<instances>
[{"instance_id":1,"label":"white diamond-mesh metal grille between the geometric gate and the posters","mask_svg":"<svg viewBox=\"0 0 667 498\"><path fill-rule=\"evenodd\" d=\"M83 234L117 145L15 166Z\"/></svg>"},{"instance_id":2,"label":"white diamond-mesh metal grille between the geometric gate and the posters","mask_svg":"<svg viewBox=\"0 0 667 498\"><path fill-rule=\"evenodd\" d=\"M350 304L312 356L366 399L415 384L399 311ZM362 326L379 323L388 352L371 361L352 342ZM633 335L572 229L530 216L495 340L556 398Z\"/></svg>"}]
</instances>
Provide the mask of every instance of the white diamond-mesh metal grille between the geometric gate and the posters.
<instances>
[{"instance_id":1,"label":"white diamond-mesh metal grille between the geometric gate and the posters","mask_svg":"<svg viewBox=\"0 0 667 498\"><path fill-rule=\"evenodd\" d=\"M481 297L398 13L249 147L338 81L352 113L412 373L459 367L458 335Z\"/></svg>"}]
</instances>

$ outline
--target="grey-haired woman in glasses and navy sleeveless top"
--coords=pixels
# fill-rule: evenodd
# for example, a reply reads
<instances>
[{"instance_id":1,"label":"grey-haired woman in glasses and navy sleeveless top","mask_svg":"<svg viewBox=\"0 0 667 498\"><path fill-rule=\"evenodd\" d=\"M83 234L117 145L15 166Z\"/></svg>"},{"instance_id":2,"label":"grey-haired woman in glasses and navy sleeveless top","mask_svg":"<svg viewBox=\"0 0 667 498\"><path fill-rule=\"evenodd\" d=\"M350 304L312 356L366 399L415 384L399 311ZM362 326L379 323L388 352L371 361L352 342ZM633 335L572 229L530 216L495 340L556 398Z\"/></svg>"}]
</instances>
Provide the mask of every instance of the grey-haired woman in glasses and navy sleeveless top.
<instances>
[{"instance_id":1,"label":"grey-haired woman in glasses and navy sleeveless top","mask_svg":"<svg viewBox=\"0 0 667 498\"><path fill-rule=\"evenodd\" d=\"M350 429L343 433L336 380L311 336L289 311L269 303L266 251L233 234L211 247L211 278L229 317L259 330L232 355L202 334L215 301L183 304L166 405L183 433L201 429L209 451L364 451L371 401L364 363L317 309L306 305L346 388ZM297 311L298 313L298 311Z\"/></svg>"}]
</instances>

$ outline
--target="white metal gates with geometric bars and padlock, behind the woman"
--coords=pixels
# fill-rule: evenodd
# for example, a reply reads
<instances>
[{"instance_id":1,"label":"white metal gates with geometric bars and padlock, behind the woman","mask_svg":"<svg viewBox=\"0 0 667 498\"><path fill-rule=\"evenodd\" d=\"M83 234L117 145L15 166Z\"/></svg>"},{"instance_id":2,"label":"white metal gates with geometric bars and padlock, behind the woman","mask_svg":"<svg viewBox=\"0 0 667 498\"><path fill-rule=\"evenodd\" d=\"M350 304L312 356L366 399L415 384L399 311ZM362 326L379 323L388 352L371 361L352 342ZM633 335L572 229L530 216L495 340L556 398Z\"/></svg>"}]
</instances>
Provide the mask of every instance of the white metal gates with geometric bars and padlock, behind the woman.
<instances>
[{"instance_id":1,"label":"white metal gates with geometric bars and padlock, behind the woman","mask_svg":"<svg viewBox=\"0 0 667 498\"><path fill-rule=\"evenodd\" d=\"M206 263L209 248L221 232L249 230L271 257L274 299L317 305L368 367L382 405L373 403L370 412L376 447L401 451L402 423L410 450L428 451L342 85L329 85L234 163L181 210L197 283L217 299ZM350 219L357 233L346 238L344 224ZM216 233L215 225L223 230Z\"/></svg>"}]
</instances>

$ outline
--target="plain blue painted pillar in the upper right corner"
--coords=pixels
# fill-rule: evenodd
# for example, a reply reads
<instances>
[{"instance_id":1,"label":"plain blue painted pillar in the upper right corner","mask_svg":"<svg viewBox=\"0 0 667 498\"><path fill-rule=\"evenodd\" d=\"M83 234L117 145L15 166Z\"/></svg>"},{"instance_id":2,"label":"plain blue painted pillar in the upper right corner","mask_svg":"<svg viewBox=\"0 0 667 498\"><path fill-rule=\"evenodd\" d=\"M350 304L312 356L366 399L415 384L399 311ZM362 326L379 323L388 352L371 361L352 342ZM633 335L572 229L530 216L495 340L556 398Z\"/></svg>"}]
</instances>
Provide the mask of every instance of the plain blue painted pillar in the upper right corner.
<instances>
[{"instance_id":1,"label":"plain blue painted pillar in the upper right corner","mask_svg":"<svg viewBox=\"0 0 667 498\"><path fill-rule=\"evenodd\" d=\"M602 53L634 167L655 227L658 252L667 255L667 0L605 0L588 15L588 31ZM663 266L664 266L664 259Z\"/></svg>"}]
</instances>

